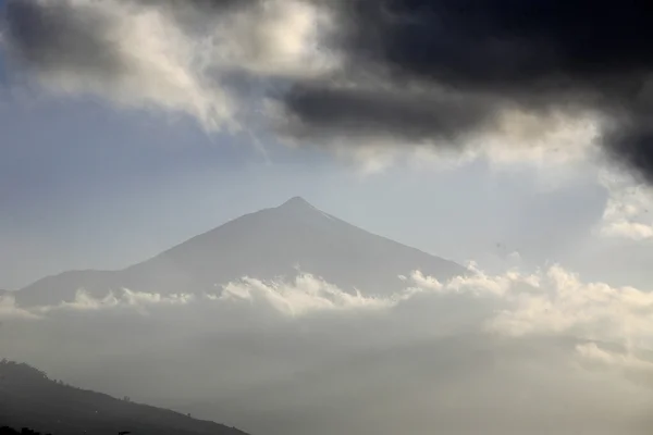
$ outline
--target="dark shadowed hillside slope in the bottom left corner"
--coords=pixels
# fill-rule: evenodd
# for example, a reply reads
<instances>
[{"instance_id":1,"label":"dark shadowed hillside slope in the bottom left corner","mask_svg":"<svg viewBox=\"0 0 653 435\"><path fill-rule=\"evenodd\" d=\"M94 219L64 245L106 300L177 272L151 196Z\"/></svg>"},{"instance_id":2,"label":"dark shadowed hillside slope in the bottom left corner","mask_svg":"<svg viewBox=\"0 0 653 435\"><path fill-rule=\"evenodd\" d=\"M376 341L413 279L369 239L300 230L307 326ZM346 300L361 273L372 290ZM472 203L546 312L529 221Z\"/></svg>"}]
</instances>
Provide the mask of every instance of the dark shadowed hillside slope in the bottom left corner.
<instances>
[{"instance_id":1,"label":"dark shadowed hillside slope in the bottom left corner","mask_svg":"<svg viewBox=\"0 0 653 435\"><path fill-rule=\"evenodd\" d=\"M222 424L74 388L27 364L0 362L0 426L52 435L246 435Z\"/></svg>"}]
</instances>

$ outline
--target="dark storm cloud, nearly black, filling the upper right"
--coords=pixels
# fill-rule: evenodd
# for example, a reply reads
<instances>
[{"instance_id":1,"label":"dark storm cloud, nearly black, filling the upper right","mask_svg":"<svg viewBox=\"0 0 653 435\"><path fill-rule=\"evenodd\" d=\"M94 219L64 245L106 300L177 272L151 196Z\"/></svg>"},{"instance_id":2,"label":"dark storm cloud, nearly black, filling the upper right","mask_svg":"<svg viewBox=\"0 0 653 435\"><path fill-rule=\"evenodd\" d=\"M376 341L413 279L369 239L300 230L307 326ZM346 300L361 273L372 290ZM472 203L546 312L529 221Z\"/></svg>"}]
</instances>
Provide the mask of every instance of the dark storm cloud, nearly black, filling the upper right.
<instances>
[{"instance_id":1,"label":"dark storm cloud, nearly black, filling the upper right","mask_svg":"<svg viewBox=\"0 0 653 435\"><path fill-rule=\"evenodd\" d=\"M334 2L342 25L338 44L350 71L368 71L385 77L399 89L406 83L447 87L461 95L490 95L493 104L478 107L467 99L473 113L459 127L484 127L505 104L522 110L600 110L619 120L619 127L604 138L605 147L617 160L627 162L650 182L653 181L652 135L645 128L649 113L642 96L653 70L653 26L648 3L643 1L592 0L354 0ZM323 133L331 123L333 133L343 119L375 119L397 136L410 137L415 117L403 103L385 101L381 110L373 104L348 104L366 99L355 88L343 91L328 88L316 91L300 87L301 101L320 99L342 102L337 116L316 110L316 104L297 104L291 92L288 109L303 120L304 129L318 127ZM643 101L642 101L643 98ZM464 98L460 101L465 101ZM431 105L427 117L433 121L434 136L451 136L449 117L464 112L446 101ZM414 112L412 112L414 113ZM322 114L320 116L320 114ZM414 113L415 114L415 113ZM390 123L386 123L391 120Z\"/></svg>"}]
</instances>

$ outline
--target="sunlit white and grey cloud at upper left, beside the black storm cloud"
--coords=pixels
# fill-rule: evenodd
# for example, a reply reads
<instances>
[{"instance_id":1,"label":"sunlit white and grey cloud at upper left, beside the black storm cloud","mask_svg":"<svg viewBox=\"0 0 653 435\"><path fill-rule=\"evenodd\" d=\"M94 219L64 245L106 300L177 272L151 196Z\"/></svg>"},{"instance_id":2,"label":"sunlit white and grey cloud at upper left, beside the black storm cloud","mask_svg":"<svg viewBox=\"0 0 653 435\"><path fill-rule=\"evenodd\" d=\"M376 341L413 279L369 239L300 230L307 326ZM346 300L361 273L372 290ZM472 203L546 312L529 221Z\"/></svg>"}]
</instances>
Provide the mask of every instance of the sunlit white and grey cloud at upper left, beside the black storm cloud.
<instances>
[{"instance_id":1,"label":"sunlit white and grey cloud at upper left, beside the black storm cloud","mask_svg":"<svg viewBox=\"0 0 653 435\"><path fill-rule=\"evenodd\" d=\"M245 112L257 111L260 80L308 78L338 63L321 47L333 30L329 14L301 0L217 3L209 8L223 10L207 13L176 2L25 1L23 20L35 28L13 29L17 40L2 46L47 90L186 114L208 130L252 116Z\"/></svg>"}]
</instances>

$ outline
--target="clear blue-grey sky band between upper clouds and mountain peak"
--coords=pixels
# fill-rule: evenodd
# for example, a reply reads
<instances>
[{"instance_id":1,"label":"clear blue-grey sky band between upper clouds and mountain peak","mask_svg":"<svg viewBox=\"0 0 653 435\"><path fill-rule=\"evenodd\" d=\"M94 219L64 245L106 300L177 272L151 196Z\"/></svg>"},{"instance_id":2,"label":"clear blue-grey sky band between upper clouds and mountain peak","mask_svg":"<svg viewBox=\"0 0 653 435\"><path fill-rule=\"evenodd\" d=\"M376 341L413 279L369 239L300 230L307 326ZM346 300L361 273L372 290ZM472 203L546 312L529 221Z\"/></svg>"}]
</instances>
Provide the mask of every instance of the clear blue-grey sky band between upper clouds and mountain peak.
<instances>
[{"instance_id":1,"label":"clear blue-grey sky band between upper clouds and mountain peak","mask_svg":"<svg viewBox=\"0 0 653 435\"><path fill-rule=\"evenodd\" d=\"M322 150L207 135L193 120L9 94L0 117L9 289L64 270L123 268L293 196L459 262L513 252L531 265L574 262L569 244L613 243L593 234L609 192L582 163L558 175L530 162L447 167L405 157L369 172Z\"/></svg>"}]
</instances>

